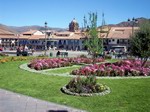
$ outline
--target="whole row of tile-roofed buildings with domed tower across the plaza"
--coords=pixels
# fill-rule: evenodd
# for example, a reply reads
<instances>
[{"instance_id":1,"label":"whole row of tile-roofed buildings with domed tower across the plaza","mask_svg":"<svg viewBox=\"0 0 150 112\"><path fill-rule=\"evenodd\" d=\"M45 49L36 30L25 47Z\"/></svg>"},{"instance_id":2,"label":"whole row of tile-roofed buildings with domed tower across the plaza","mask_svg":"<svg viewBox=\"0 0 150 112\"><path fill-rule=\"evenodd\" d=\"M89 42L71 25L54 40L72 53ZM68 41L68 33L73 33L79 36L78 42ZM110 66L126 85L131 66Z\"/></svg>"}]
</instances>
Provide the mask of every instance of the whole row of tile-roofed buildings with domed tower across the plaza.
<instances>
[{"instance_id":1,"label":"whole row of tile-roofed buildings with domed tower across the plaza","mask_svg":"<svg viewBox=\"0 0 150 112\"><path fill-rule=\"evenodd\" d=\"M138 29L138 27L134 27ZM129 39L133 33L132 27L108 27L98 28L99 37L103 39L106 50L114 48L129 48ZM57 48L66 50L86 50L84 40L86 36L79 29L76 20L69 24L68 31L38 31L30 30L22 34L15 34L10 31L0 29L0 47L14 48L17 46L28 46L29 49L44 50Z\"/></svg>"}]
</instances>

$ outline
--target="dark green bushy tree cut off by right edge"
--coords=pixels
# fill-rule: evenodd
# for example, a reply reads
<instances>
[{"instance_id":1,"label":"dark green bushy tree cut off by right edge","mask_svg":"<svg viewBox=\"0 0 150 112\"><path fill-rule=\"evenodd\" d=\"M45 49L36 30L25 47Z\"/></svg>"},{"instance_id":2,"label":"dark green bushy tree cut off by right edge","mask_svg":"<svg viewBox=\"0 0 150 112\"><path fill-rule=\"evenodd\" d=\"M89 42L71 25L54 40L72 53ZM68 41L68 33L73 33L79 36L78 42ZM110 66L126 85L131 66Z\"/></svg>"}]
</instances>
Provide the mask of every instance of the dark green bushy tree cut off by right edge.
<instances>
[{"instance_id":1,"label":"dark green bushy tree cut off by right edge","mask_svg":"<svg viewBox=\"0 0 150 112\"><path fill-rule=\"evenodd\" d=\"M141 58L144 66L150 57L150 21L145 21L134 35L131 36L131 54Z\"/></svg>"}]
</instances>

